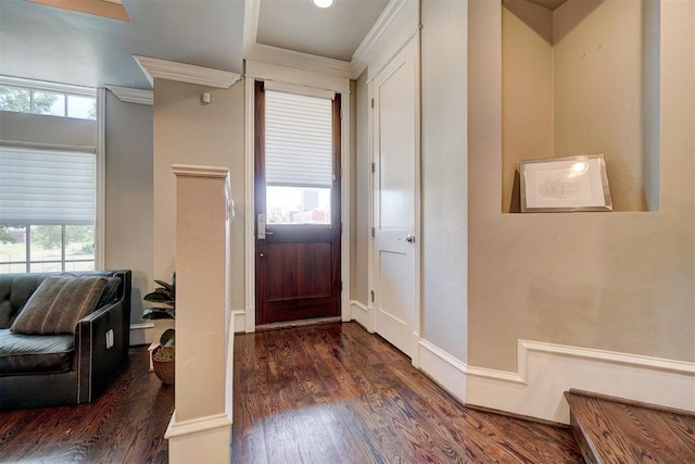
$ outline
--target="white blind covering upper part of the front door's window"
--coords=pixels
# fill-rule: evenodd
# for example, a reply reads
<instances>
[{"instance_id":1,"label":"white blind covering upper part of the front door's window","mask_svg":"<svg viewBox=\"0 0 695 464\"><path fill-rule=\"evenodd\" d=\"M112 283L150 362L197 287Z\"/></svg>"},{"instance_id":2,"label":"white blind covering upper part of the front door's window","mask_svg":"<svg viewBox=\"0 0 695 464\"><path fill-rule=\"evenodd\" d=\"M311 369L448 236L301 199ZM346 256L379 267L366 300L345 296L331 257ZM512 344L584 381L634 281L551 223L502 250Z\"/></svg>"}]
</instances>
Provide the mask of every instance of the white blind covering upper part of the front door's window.
<instances>
[{"instance_id":1,"label":"white blind covering upper part of the front door's window","mask_svg":"<svg viewBox=\"0 0 695 464\"><path fill-rule=\"evenodd\" d=\"M330 188L331 103L325 98L266 90L266 185Z\"/></svg>"}]
</instances>

